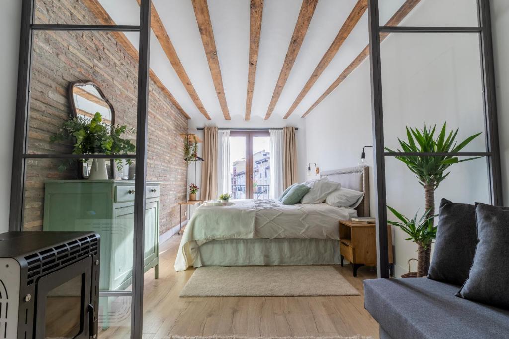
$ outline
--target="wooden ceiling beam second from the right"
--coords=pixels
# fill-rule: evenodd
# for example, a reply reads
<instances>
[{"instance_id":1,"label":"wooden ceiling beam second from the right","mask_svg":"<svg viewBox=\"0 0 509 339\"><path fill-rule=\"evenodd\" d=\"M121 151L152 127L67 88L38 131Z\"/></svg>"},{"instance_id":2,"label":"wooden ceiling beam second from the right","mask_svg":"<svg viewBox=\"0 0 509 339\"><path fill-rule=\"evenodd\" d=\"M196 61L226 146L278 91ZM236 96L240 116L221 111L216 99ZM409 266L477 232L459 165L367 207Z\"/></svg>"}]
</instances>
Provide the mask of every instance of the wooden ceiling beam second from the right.
<instances>
[{"instance_id":1,"label":"wooden ceiling beam second from the right","mask_svg":"<svg viewBox=\"0 0 509 339\"><path fill-rule=\"evenodd\" d=\"M337 33L334 40L332 41L332 44L330 45L329 49L327 49L325 54L322 56L322 59L320 60L317 67L313 71L313 74L311 75L309 80L307 80L306 84L304 85L304 88L302 88L299 95L295 99L294 103L292 104L288 112L285 114L284 119L287 119L295 111L295 109L304 99L308 91L311 89L311 87L313 87L313 85L318 80L320 75L322 75L323 71L325 71L334 55L336 55L337 51L341 48L345 40L347 40L347 38L352 33L352 30L357 25L362 15L364 15L364 13L366 12L366 9L367 0L358 0L352 12L348 16L347 20L341 27L340 31Z\"/></svg>"}]
</instances>

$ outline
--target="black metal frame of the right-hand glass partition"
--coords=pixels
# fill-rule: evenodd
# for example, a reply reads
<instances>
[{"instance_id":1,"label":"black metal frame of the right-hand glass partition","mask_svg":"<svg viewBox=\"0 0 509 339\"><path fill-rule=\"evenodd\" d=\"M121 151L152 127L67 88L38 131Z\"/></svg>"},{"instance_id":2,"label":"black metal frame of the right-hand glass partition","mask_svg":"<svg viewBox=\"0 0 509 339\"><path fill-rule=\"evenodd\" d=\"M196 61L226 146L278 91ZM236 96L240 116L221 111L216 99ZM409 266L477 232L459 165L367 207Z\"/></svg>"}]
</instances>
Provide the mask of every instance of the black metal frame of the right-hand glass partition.
<instances>
[{"instance_id":1,"label":"black metal frame of the right-hand glass partition","mask_svg":"<svg viewBox=\"0 0 509 339\"><path fill-rule=\"evenodd\" d=\"M385 157L395 156L463 156L486 157L490 184L490 198L494 205L502 205L500 153L498 145L497 111L495 101L495 80L493 69L493 49L491 38L491 18L489 0L477 1L477 27L407 27L380 26L379 1L369 0L369 37L370 37L370 66L371 66L371 97L372 124L374 145L374 177L375 197L377 199L377 271L378 278L389 278L388 245L387 245L387 201L385 186ZM485 152L457 152L457 153L408 153L385 152L383 131L382 106L382 77L380 33L469 33L479 35L480 60L484 89L485 115ZM383 226L383 227L382 227Z\"/></svg>"}]
</instances>

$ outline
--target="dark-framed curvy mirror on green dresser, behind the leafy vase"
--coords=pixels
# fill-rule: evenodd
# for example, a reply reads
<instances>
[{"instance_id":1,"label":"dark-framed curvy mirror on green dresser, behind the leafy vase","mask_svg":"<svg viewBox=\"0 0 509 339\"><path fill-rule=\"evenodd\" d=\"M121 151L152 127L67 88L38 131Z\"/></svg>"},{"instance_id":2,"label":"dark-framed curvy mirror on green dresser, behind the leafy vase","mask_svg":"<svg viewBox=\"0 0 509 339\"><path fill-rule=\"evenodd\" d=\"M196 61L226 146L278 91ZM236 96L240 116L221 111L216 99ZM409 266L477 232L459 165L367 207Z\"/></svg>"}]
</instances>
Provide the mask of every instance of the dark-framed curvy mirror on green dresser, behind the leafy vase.
<instances>
[{"instance_id":1,"label":"dark-framed curvy mirror on green dresser, behind the leafy vase","mask_svg":"<svg viewBox=\"0 0 509 339\"><path fill-rule=\"evenodd\" d=\"M101 88L91 81L71 82L69 84L69 102L71 106L71 116L82 116L86 119L92 119L95 113L101 113L104 122L115 125L115 109L102 93ZM88 179L92 159L80 163L78 166L78 175L80 178ZM115 165L111 160L106 164L108 177L115 178Z\"/></svg>"}]
</instances>

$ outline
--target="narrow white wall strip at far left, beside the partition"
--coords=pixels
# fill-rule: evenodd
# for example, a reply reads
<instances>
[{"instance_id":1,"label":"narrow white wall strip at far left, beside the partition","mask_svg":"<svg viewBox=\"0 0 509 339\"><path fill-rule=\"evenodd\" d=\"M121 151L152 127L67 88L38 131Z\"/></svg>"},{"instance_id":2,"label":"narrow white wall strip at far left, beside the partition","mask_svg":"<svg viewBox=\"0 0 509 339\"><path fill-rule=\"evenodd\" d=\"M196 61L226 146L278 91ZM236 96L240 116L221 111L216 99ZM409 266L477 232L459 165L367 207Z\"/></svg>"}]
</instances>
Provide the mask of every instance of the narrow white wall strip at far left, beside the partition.
<instances>
[{"instance_id":1,"label":"narrow white wall strip at far left, beside the partition","mask_svg":"<svg viewBox=\"0 0 509 339\"><path fill-rule=\"evenodd\" d=\"M3 114L2 124L0 124L0 155L3 161L0 162L0 233L9 230L21 2L19 0L3 0L1 7L0 102Z\"/></svg>"}]
</instances>

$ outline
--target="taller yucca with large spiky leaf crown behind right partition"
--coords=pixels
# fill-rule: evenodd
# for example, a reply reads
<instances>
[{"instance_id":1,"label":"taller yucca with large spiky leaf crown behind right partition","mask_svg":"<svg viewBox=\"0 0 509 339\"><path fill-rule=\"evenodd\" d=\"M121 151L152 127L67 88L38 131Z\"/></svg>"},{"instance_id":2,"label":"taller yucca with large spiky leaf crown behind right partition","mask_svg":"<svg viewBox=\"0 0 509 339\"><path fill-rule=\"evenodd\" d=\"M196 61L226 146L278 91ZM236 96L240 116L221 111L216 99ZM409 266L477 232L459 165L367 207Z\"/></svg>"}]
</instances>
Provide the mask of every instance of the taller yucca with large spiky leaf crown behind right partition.
<instances>
[{"instance_id":1,"label":"taller yucca with large spiky leaf crown behind right partition","mask_svg":"<svg viewBox=\"0 0 509 339\"><path fill-rule=\"evenodd\" d=\"M456 131L446 132L446 123L442 126L440 133L435 136L436 125L433 128L428 128L426 124L424 129L406 127L407 141L402 141L398 138L401 149L391 150L385 148L387 152L412 152L412 153L449 153L459 152L472 140L474 140L481 133L476 133L464 141L456 141L459 129ZM446 170L454 164L478 159L480 157L468 158L459 160L458 157L450 156L396 156L395 159L403 162L412 173L414 173L419 180L419 183L424 188L426 205L425 210L429 215L435 215L435 190L439 184L449 175L450 172ZM433 219L430 221L433 223ZM429 263L431 260L431 249L425 252L425 257L422 258L423 263L417 264L421 270L418 271L419 276L428 274Z\"/></svg>"}]
</instances>

